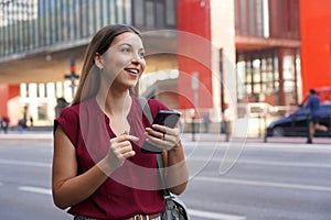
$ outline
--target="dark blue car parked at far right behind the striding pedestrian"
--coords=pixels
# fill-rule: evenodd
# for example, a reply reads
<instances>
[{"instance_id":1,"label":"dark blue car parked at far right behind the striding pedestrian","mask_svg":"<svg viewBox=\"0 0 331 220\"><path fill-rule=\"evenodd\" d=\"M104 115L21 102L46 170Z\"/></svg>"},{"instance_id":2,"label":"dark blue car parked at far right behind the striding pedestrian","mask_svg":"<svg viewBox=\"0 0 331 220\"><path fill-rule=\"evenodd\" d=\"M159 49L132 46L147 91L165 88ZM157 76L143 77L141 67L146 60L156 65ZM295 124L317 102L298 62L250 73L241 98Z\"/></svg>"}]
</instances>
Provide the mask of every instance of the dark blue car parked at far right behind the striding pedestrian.
<instances>
[{"instance_id":1,"label":"dark blue car parked at far right behind the striding pedestrian","mask_svg":"<svg viewBox=\"0 0 331 220\"><path fill-rule=\"evenodd\" d=\"M320 124L328 127L327 132L316 131L316 136L331 136L331 105L321 105ZM307 136L309 131L309 109L298 107L296 111L271 122L267 127L267 136Z\"/></svg>"}]
</instances>

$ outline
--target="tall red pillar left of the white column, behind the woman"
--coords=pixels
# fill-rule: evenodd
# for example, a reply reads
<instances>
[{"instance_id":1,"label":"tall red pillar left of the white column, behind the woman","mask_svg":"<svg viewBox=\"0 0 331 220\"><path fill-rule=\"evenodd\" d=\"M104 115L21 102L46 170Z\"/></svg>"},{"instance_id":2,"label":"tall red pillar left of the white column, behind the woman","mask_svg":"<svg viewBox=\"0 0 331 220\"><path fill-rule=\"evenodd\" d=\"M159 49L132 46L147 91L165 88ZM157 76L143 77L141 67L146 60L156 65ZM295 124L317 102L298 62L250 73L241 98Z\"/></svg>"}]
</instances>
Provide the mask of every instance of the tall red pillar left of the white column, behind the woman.
<instances>
[{"instance_id":1,"label":"tall red pillar left of the white column, behind the woman","mask_svg":"<svg viewBox=\"0 0 331 220\"><path fill-rule=\"evenodd\" d=\"M199 108L211 108L211 12L210 1L178 0L179 108L194 106L192 73L199 73Z\"/></svg>"}]
</instances>

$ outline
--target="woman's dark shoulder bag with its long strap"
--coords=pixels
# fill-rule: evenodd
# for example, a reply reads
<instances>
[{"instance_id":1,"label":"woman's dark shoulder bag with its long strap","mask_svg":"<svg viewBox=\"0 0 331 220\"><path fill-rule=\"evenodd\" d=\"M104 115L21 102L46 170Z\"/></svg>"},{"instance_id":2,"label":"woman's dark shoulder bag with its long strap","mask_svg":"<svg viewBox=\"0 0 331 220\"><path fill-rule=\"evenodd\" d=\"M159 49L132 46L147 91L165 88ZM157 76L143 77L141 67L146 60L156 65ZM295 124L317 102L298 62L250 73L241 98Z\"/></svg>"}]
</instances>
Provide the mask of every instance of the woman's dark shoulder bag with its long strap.
<instances>
[{"instance_id":1,"label":"woman's dark shoulder bag with its long strap","mask_svg":"<svg viewBox=\"0 0 331 220\"><path fill-rule=\"evenodd\" d=\"M150 112L150 108L147 103L146 98L140 97L139 101L142 108L142 112L148 118L150 123L152 123L152 114ZM162 194L166 201L166 209L161 213L161 220L190 220L190 217L188 215L188 209L184 202L181 199L179 199L175 195L171 194L169 189L166 187L162 154L158 154L157 160L158 160L158 170L159 170L160 183L162 187Z\"/></svg>"}]
</instances>

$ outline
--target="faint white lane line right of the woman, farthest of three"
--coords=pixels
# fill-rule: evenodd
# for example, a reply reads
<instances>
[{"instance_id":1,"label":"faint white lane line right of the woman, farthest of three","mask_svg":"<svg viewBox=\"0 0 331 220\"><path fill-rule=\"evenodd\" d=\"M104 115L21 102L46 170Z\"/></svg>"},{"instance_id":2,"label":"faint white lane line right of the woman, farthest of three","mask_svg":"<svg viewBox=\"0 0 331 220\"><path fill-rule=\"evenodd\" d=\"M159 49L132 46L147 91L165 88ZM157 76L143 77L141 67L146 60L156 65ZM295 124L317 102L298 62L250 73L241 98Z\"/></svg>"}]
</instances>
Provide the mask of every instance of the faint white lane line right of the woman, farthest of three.
<instances>
[{"instance_id":1,"label":"faint white lane line right of the woman, farthest of three","mask_svg":"<svg viewBox=\"0 0 331 220\"><path fill-rule=\"evenodd\" d=\"M188 157L188 162L213 162L221 163L223 158L207 160L204 157ZM273 162L273 161L250 161L250 160L237 160L237 164L257 164L257 165L267 165L267 166L295 166L295 167L311 167L311 168L331 168L331 164L322 163L292 163L292 162Z\"/></svg>"}]
</instances>

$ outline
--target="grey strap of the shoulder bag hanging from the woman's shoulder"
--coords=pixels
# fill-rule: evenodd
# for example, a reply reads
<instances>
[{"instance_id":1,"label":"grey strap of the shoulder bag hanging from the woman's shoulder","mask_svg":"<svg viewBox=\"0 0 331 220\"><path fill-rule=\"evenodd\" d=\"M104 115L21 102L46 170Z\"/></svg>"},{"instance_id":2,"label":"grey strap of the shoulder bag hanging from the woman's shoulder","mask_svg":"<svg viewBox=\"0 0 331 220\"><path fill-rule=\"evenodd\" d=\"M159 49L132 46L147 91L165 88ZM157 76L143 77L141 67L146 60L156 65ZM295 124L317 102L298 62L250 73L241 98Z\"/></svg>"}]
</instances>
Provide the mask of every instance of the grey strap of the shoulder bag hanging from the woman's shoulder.
<instances>
[{"instance_id":1,"label":"grey strap of the shoulder bag hanging from the woman's shoulder","mask_svg":"<svg viewBox=\"0 0 331 220\"><path fill-rule=\"evenodd\" d=\"M143 114L148 118L150 124L153 122L153 117L151 114L148 101L145 97L139 97L139 102L142 109ZM162 154L157 155L157 162L158 162L158 172L160 177L160 184L162 188L163 196L170 196L169 189L166 187L166 179L164 179L164 167L163 167L163 157Z\"/></svg>"}]
</instances>

